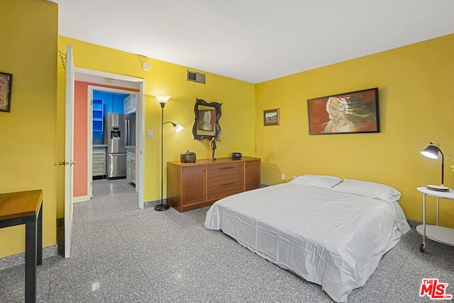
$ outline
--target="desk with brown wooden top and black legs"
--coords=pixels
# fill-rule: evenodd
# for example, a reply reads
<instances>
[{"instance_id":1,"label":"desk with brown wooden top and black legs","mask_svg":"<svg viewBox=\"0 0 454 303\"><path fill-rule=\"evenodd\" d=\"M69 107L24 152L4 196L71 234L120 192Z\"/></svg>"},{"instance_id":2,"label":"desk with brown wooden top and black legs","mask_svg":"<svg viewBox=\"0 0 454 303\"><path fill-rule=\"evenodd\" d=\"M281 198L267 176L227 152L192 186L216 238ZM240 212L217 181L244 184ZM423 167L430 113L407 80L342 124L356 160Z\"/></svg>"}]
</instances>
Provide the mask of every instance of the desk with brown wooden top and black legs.
<instances>
[{"instance_id":1,"label":"desk with brown wooden top and black legs","mask_svg":"<svg viewBox=\"0 0 454 303\"><path fill-rule=\"evenodd\" d=\"M36 301L36 265L43 264L43 190L0 194L0 228L26 224L26 303Z\"/></svg>"}]
</instances>

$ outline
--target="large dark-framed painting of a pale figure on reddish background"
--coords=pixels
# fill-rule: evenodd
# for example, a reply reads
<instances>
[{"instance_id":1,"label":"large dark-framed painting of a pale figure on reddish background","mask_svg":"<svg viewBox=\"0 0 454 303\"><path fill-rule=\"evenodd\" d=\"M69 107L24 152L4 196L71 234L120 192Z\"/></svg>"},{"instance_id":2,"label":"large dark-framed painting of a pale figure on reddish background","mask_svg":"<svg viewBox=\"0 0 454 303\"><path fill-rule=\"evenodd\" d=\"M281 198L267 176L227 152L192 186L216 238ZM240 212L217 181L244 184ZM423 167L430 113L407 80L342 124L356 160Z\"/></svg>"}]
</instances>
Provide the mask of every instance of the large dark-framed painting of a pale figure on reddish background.
<instances>
[{"instance_id":1,"label":"large dark-framed painting of a pale figure on reddish background","mask_svg":"<svg viewBox=\"0 0 454 303\"><path fill-rule=\"evenodd\" d=\"M307 101L309 135L380 132L378 88Z\"/></svg>"}]
</instances>

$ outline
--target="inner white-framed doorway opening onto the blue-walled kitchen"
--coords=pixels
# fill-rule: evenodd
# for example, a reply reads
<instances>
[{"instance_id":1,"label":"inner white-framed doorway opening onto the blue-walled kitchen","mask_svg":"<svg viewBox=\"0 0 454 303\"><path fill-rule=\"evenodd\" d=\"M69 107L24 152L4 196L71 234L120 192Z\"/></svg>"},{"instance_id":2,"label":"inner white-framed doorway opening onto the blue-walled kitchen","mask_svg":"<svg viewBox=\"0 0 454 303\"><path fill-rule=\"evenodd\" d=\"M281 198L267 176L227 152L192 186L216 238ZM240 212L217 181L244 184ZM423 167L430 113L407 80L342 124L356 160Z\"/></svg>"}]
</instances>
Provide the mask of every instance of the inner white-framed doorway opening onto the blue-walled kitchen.
<instances>
[{"instance_id":1,"label":"inner white-framed doorway opening onto the blue-walled kitchen","mask_svg":"<svg viewBox=\"0 0 454 303\"><path fill-rule=\"evenodd\" d=\"M93 197L96 188L102 189L102 186L96 187L95 183L106 184L104 190L122 183L135 187L138 180L135 169L138 163L135 153L138 90L89 85L87 99L88 106L92 107L92 113L89 113L92 118L88 119L89 135L92 136L89 139L92 142L92 156L89 156L88 165L88 168L92 168L88 180L92 182L87 183L89 198ZM90 173L90 169L88 171ZM96 181L104 178L110 182ZM120 181L125 178L126 182ZM127 191L130 191L128 187ZM124 186L118 185L116 190L121 191L121 188Z\"/></svg>"}]
</instances>

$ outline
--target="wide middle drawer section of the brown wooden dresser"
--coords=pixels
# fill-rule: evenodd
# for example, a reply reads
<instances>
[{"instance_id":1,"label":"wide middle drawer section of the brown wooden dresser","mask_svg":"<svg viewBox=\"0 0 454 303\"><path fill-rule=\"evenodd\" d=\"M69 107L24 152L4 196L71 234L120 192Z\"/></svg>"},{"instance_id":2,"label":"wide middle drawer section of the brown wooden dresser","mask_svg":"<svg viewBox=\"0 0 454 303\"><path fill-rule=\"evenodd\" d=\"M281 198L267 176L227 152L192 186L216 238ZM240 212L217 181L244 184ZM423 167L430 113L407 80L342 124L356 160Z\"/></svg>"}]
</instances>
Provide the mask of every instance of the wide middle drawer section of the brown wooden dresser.
<instances>
[{"instance_id":1,"label":"wide middle drawer section of the brown wooden dresser","mask_svg":"<svg viewBox=\"0 0 454 303\"><path fill-rule=\"evenodd\" d=\"M244 190L244 162L207 167L208 198L220 199Z\"/></svg>"}]
</instances>

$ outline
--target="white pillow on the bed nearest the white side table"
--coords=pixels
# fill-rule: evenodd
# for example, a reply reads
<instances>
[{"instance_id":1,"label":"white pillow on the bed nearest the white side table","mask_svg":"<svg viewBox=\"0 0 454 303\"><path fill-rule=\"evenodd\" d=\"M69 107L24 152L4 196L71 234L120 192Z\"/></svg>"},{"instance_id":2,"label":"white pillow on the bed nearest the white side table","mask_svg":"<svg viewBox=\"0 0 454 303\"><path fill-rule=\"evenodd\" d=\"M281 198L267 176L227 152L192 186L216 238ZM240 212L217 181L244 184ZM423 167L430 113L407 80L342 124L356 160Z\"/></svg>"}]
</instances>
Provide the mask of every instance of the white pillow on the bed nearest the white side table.
<instances>
[{"instance_id":1,"label":"white pillow on the bed nearest the white side table","mask_svg":"<svg viewBox=\"0 0 454 303\"><path fill-rule=\"evenodd\" d=\"M378 199L388 203L399 200L401 195L397 189L388 185L348 179L344 179L342 183L331 189L339 193L361 195L363 197Z\"/></svg>"}]
</instances>

